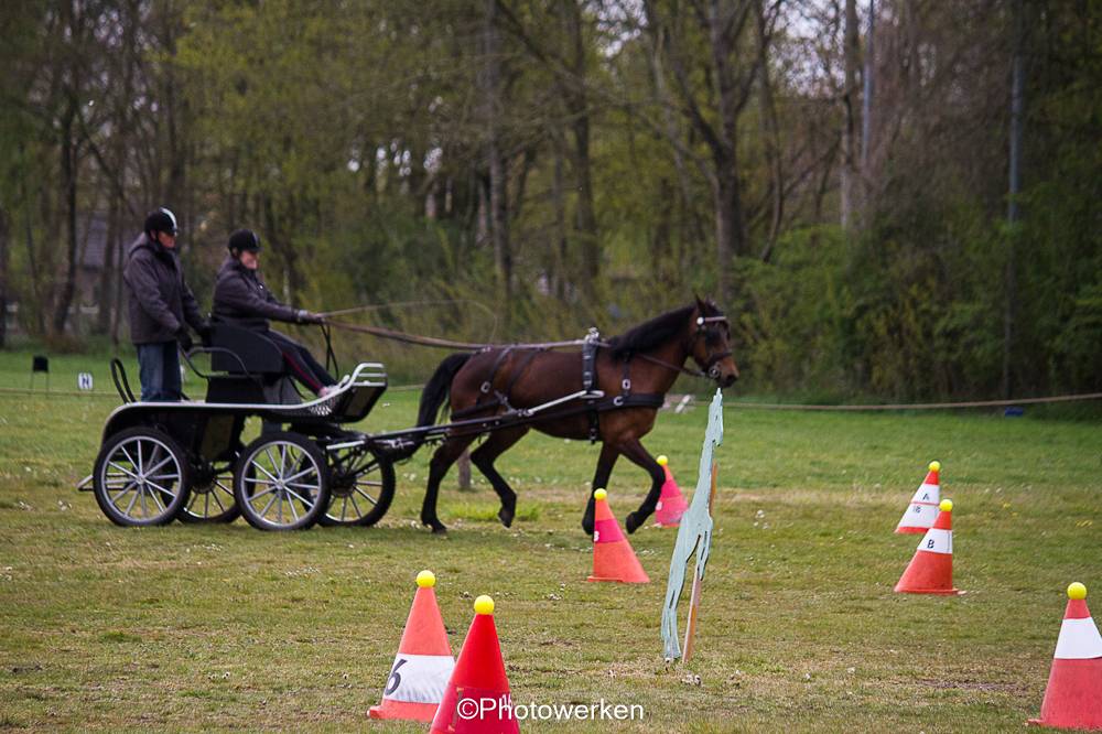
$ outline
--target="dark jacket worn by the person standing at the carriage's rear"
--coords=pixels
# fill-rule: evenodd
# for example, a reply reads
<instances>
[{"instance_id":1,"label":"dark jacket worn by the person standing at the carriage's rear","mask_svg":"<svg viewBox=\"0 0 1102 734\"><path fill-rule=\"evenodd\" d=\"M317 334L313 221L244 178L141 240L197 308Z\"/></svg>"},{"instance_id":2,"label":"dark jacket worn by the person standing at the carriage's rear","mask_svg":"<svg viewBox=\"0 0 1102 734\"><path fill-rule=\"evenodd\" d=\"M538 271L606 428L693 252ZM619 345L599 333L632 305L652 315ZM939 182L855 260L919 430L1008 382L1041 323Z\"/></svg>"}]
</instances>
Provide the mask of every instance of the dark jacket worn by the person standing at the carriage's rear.
<instances>
[{"instance_id":1,"label":"dark jacket worn by the person standing at the carriage's rear","mask_svg":"<svg viewBox=\"0 0 1102 734\"><path fill-rule=\"evenodd\" d=\"M175 251L149 237L134 242L122 270L127 284L130 341L134 344L173 342L186 321L203 327L203 315Z\"/></svg>"}]
</instances>

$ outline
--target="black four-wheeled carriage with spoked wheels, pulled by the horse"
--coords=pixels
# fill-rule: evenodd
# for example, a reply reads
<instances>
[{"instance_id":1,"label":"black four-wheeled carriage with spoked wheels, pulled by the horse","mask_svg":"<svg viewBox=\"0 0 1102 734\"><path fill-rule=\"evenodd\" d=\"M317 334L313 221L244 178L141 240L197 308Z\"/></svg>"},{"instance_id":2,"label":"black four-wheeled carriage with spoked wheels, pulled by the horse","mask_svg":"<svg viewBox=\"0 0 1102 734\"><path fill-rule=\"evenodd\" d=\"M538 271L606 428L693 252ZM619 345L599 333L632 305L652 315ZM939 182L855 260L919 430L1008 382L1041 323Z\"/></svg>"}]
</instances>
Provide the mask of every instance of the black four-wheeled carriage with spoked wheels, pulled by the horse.
<instances>
[{"instance_id":1,"label":"black four-wheeled carriage with spoked wheels, pulled by the horse","mask_svg":"<svg viewBox=\"0 0 1102 734\"><path fill-rule=\"evenodd\" d=\"M195 367L210 355L209 371ZM185 355L206 379L206 400L137 402L121 364L112 376L125 404L104 427L90 488L104 514L123 526L229 522L256 528L369 526L395 493L388 439L347 430L387 388L380 364L359 364L324 398L301 401L283 358L262 334L213 326L212 344ZM246 420L262 422L242 443Z\"/></svg>"}]
</instances>

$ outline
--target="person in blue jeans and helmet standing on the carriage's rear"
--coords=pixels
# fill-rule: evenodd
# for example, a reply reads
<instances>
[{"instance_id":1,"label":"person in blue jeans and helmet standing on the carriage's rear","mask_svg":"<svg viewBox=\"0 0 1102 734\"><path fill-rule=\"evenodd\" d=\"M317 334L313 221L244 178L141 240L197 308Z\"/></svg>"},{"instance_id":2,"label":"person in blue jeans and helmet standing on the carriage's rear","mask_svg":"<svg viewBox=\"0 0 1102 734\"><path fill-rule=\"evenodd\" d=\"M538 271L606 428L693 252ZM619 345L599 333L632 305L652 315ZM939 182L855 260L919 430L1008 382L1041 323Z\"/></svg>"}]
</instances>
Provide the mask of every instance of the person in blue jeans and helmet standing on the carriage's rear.
<instances>
[{"instance_id":1,"label":"person in blue jeans and helmet standing on the carriage's rear","mask_svg":"<svg viewBox=\"0 0 1102 734\"><path fill-rule=\"evenodd\" d=\"M130 341L138 347L142 401L176 401L182 397L179 344L192 348L191 324L204 339L210 327L199 314L176 255L176 217L163 206L145 217L145 237L127 252Z\"/></svg>"}]
</instances>

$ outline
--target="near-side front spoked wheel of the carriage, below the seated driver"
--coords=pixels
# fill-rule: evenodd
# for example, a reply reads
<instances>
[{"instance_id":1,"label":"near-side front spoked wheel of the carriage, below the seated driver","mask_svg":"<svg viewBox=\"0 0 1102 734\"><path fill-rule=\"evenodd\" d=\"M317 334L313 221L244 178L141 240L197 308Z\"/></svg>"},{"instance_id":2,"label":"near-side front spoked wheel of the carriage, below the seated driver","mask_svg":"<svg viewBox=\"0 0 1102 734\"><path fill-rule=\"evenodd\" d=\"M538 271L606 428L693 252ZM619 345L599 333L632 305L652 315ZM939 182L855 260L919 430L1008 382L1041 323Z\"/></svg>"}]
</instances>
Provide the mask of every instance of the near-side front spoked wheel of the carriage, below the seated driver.
<instances>
[{"instance_id":1,"label":"near-side front spoked wheel of the carriage, below the seated driver","mask_svg":"<svg viewBox=\"0 0 1102 734\"><path fill-rule=\"evenodd\" d=\"M309 528L329 501L325 456L313 441L299 433L266 433L250 443L238 460L234 496L241 515L255 528Z\"/></svg>"}]
</instances>

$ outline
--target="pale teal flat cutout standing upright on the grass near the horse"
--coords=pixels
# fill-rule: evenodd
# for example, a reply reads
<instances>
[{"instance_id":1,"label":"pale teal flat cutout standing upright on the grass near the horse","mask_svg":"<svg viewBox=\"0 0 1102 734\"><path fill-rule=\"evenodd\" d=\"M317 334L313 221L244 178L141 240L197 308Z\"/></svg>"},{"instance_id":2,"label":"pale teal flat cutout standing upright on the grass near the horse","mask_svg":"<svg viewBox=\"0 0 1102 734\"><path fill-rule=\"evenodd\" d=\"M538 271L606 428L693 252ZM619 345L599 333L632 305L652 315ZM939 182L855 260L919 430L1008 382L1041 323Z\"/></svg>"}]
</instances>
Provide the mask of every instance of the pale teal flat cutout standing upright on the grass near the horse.
<instances>
[{"instance_id":1,"label":"pale teal flat cutout standing upright on the grass near the horse","mask_svg":"<svg viewBox=\"0 0 1102 734\"><path fill-rule=\"evenodd\" d=\"M666 659L681 657L678 643L678 601L685 582L685 572L693 553L696 553L696 571L693 575L692 608L689 611L690 633L694 625L695 606L700 603L700 584L704 581L704 568L712 550L712 471L715 447L723 443L723 393L715 397L707 409L707 430L704 432L704 447L700 452L700 471L696 474L696 492L693 493L689 509L681 516L678 540L673 544L670 559L670 580L666 585L666 607L662 609L662 641L666 644ZM685 655L690 651L691 639L685 636Z\"/></svg>"}]
</instances>

